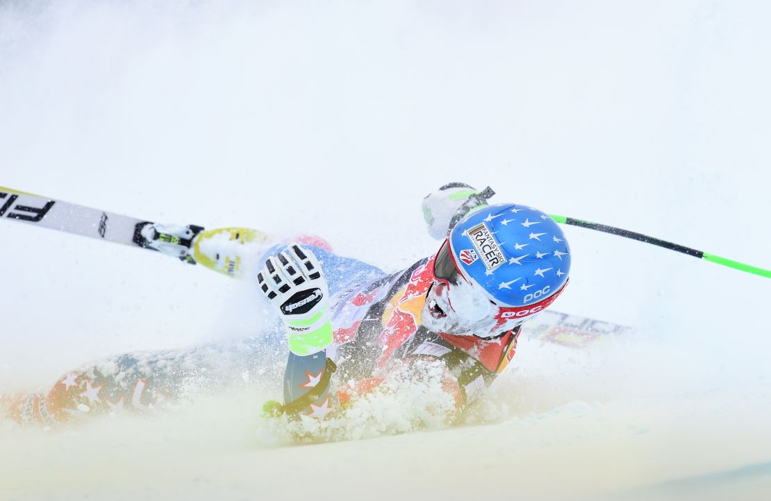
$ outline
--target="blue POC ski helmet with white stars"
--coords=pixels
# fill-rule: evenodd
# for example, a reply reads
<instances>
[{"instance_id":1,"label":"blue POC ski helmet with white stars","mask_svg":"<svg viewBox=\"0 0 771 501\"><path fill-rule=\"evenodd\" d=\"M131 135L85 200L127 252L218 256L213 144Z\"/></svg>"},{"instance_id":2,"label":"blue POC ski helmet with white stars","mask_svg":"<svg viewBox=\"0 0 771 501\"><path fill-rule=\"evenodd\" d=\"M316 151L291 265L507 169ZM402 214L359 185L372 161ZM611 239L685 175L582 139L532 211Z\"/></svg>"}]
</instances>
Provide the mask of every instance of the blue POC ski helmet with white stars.
<instances>
[{"instance_id":1,"label":"blue POC ski helmet with white stars","mask_svg":"<svg viewBox=\"0 0 771 501\"><path fill-rule=\"evenodd\" d=\"M482 207L460 220L448 241L466 280L504 308L544 301L561 290L571 271L561 227L533 207Z\"/></svg>"}]
</instances>

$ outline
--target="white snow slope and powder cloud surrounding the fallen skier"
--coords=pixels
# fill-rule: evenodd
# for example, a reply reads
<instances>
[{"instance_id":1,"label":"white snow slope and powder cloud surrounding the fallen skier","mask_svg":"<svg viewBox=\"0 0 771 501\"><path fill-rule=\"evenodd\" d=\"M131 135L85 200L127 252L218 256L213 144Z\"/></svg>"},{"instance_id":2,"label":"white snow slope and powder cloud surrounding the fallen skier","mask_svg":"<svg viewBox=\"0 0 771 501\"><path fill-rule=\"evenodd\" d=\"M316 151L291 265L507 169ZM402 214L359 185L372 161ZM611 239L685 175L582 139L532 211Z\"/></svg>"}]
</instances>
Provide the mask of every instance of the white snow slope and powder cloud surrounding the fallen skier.
<instances>
[{"instance_id":1,"label":"white snow slope and powder cloud surrounding the fallen skier","mask_svg":"<svg viewBox=\"0 0 771 501\"><path fill-rule=\"evenodd\" d=\"M422 197L460 180L769 267L769 15L728 0L3 2L0 185L319 234L396 271L438 247ZM283 446L258 419L279 382L261 378L153 417L4 425L0 499L762 499L771 282L565 231L574 270L554 308L636 334L584 350L524 336L464 426L391 436L409 429L406 398L370 409L374 439ZM8 220L0 239L3 394L254 335L268 314L251 284L157 254Z\"/></svg>"}]
</instances>

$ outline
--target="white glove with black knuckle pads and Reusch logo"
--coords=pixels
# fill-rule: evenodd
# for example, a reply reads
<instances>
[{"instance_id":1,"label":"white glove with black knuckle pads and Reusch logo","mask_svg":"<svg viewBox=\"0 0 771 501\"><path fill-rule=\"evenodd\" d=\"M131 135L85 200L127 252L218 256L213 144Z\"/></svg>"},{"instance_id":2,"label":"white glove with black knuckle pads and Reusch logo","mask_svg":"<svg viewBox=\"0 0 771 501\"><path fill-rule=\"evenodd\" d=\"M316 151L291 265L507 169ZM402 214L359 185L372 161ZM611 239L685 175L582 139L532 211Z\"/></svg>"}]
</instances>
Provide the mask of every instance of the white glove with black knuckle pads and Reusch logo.
<instances>
[{"instance_id":1,"label":"white glove with black knuckle pads and Reusch logo","mask_svg":"<svg viewBox=\"0 0 771 501\"><path fill-rule=\"evenodd\" d=\"M287 328L292 353L312 355L332 345L327 280L311 251L290 244L268 257L257 281Z\"/></svg>"}]
</instances>

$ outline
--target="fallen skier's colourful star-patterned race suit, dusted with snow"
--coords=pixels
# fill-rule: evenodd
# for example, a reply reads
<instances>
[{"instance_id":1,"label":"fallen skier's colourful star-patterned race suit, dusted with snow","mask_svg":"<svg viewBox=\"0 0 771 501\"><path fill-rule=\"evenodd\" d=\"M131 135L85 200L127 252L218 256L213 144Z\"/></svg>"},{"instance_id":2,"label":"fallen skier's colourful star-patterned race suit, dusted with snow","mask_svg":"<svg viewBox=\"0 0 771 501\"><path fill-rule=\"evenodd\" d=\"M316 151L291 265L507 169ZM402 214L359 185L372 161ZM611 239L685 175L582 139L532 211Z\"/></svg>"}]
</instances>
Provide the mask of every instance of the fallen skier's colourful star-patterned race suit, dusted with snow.
<instances>
[{"instance_id":1,"label":"fallen skier's colourful star-patterned race suit, dusted with snow","mask_svg":"<svg viewBox=\"0 0 771 501\"><path fill-rule=\"evenodd\" d=\"M421 311L434 280L433 256L386 274L334 254L323 240L314 243L305 247L318 257L328 281L335 344L326 353L306 357L290 353L284 402L302 402L296 411L323 418L340 399L348 398L345 392L331 391L330 379L339 388L351 380L371 381L389 364L416 358L446 365L456 403L463 407L478 398L513 357L519 326L490 339L423 327ZM264 256L278 251L281 246ZM146 412L257 374L266 350L280 349L276 339L261 335L221 345L120 355L67 372L49 392L14 398L5 407L18 422L44 426L117 410ZM303 402L306 393L312 398Z\"/></svg>"}]
</instances>

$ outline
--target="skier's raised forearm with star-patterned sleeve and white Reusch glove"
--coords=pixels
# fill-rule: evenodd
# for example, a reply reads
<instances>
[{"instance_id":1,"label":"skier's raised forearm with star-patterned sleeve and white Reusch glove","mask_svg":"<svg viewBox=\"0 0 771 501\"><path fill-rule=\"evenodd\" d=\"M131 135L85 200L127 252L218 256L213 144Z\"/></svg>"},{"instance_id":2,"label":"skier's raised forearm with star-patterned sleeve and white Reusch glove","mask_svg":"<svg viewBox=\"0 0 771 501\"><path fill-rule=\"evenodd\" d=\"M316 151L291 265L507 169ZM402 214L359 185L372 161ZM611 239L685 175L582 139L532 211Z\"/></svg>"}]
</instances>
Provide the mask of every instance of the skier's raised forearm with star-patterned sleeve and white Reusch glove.
<instances>
[{"instance_id":1,"label":"skier's raised forearm with star-patterned sleeve and white Reusch glove","mask_svg":"<svg viewBox=\"0 0 771 501\"><path fill-rule=\"evenodd\" d=\"M266 410L324 419L332 410L328 394L335 364L326 358L326 348L332 345L332 320L322 267L311 251L291 244L268 257L257 279L284 323L290 351L284 404L269 402Z\"/></svg>"}]
</instances>

